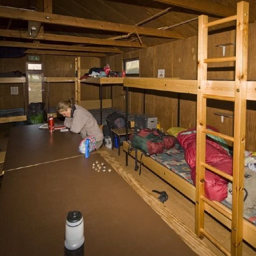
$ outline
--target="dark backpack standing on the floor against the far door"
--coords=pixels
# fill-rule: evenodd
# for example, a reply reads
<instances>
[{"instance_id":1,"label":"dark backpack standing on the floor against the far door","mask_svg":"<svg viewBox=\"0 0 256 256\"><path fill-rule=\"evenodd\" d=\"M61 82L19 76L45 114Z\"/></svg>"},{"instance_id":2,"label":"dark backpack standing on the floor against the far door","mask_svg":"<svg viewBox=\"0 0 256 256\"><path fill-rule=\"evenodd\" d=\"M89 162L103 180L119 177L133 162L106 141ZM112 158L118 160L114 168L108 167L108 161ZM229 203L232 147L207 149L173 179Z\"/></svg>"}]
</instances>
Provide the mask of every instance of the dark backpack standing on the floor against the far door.
<instances>
[{"instance_id":1,"label":"dark backpack standing on the floor against the far door","mask_svg":"<svg viewBox=\"0 0 256 256\"><path fill-rule=\"evenodd\" d=\"M43 122L47 122L47 112L45 110L45 103L30 103L27 109L27 124L36 124Z\"/></svg>"}]
</instances>

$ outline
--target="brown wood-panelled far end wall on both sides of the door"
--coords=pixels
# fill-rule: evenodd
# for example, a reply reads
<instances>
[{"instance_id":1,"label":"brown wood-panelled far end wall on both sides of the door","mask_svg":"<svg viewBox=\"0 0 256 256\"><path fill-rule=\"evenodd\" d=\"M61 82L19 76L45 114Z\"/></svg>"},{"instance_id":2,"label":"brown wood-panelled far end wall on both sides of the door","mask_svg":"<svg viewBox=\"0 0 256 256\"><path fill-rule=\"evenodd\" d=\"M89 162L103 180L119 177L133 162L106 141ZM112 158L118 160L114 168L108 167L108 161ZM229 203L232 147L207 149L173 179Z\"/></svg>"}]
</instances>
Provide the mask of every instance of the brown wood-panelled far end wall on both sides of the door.
<instances>
[{"instance_id":1,"label":"brown wood-panelled far end wall on both sides of the door","mask_svg":"<svg viewBox=\"0 0 256 256\"><path fill-rule=\"evenodd\" d=\"M75 77L75 57L74 56L54 56L54 55L39 55L40 61L44 63L44 77ZM0 72L6 73L19 70L22 73L26 72L26 62L28 56L21 58L1 58ZM81 57L81 69L89 69L91 67L100 67L99 57ZM19 87L19 95L11 95L11 86ZM45 103L48 107L48 84L43 83L45 87ZM70 97L75 97L75 83L61 82L49 83L50 90L50 107L56 107L60 100L66 100ZM111 98L110 89L104 88L104 99ZM23 103L23 84L0 84L0 109L22 108ZM98 86L81 86L82 100L98 100Z\"/></svg>"}]
</instances>

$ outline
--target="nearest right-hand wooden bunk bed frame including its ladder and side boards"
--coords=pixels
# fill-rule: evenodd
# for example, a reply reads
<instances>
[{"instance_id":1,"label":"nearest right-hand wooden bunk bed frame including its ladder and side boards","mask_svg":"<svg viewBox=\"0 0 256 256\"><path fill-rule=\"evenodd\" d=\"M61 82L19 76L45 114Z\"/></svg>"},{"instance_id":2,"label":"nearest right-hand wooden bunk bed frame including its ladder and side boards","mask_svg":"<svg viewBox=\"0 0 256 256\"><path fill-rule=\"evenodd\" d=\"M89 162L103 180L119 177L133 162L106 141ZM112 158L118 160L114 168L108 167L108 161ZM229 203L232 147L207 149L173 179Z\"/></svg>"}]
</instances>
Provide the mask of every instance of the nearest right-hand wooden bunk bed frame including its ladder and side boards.
<instances>
[{"instance_id":1,"label":"nearest right-hand wooden bunk bed frame including its ladder and side boards","mask_svg":"<svg viewBox=\"0 0 256 256\"><path fill-rule=\"evenodd\" d=\"M237 15L232 17L209 23L207 16L201 15L199 17L199 64L197 80L124 78L123 81L123 86L126 87L126 112L128 111L127 97L129 87L197 94L197 186L194 187L188 181L179 177L177 174L167 169L167 167L157 163L151 157L143 157L143 164L195 202L195 233L200 237L207 237L226 255L242 255L243 239L256 248L256 225L253 225L243 218L246 100L256 100L256 82L247 81L248 11L249 4L242 1L237 4ZM212 26L233 20L237 20L236 56L207 59L207 28L210 25ZM207 63L223 61L236 62L236 80L207 80ZM211 133L209 130L206 130L206 99L234 101L234 138L212 132L212 134L214 133L219 137L234 142L233 177L224 176L221 171L204 163L205 137L206 134ZM126 164L128 164L128 155L130 154L135 157L135 152L129 152L129 143L127 141L123 143L123 150L126 153ZM137 153L138 159L141 159L142 153L140 151ZM233 181L233 191L236 190L236 192L233 193L233 211L226 208L220 202L210 201L205 198L204 171L206 167ZM204 230L204 210L231 230L231 252Z\"/></svg>"}]
</instances>

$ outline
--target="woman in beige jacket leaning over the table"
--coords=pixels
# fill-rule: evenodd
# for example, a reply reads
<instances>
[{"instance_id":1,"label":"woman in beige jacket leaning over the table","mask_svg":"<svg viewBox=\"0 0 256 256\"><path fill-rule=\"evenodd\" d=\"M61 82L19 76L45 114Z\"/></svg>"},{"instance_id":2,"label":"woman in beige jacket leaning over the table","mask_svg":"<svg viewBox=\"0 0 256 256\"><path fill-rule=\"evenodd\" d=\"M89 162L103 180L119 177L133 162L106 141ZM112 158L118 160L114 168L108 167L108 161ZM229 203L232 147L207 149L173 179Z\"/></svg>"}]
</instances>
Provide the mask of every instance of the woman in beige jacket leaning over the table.
<instances>
[{"instance_id":1,"label":"woman in beige jacket leaning over the table","mask_svg":"<svg viewBox=\"0 0 256 256\"><path fill-rule=\"evenodd\" d=\"M96 137L96 149L100 148L103 142L103 133L92 114L77 104L73 104L72 98L62 100L57 105L57 111L65 116L64 125L70 131L80 134L84 139L89 135Z\"/></svg>"}]
</instances>

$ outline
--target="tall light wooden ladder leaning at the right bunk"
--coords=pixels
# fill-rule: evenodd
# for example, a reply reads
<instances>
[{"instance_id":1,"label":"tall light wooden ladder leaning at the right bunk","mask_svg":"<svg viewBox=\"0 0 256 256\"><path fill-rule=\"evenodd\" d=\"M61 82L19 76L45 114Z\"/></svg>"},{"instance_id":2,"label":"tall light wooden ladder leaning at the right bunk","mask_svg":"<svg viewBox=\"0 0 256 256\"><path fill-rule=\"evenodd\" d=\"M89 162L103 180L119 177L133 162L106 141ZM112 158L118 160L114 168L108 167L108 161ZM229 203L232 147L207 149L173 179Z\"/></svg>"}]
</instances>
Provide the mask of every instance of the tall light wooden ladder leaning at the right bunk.
<instances>
[{"instance_id":1,"label":"tall light wooden ladder leaning at the right bunk","mask_svg":"<svg viewBox=\"0 0 256 256\"><path fill-rule=\"evenodd\" d=\"M196 214L195 231L199 237L207 237L225 255L242 255L243 245L243 208L244 208L244 152L245 117L247 87L247 44L248 44L249 4L239 2L237 14L217 21L208 22L208 16L199 17L198 33L198 94L197 94L197 156L196 156ZM207 58L208 27L236 20L236 54L234 57ZM235 61L234 97L207 93L207 64L213 62ZM234 102L234 137L216 133L206 128L207 99ZM233 176L216 169L205 162L206 134L216 135L233 142ZM233 182L232 211L225 211L217 202L205 197L205 169ZM231 251L204 229L205 204L210 205L231 220Z\"/></svg>"}]
</instances>

